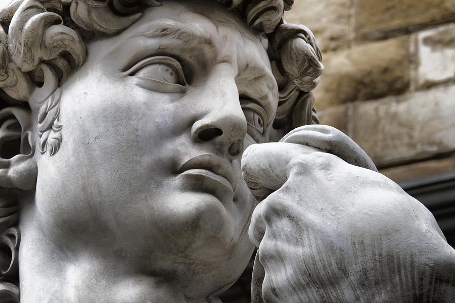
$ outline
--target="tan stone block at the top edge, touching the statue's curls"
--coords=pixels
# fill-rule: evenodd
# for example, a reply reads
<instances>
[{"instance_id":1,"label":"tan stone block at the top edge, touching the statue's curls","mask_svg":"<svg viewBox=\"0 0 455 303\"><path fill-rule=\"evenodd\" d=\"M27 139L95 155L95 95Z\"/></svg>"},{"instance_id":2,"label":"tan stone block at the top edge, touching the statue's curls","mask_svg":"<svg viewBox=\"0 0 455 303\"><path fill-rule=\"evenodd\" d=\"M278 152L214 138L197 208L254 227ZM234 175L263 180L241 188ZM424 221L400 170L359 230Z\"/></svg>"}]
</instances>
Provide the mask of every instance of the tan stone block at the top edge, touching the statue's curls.
<instances>
[{"instance_id":1,"label":"tan stone block at the top edge, touching the statue's curls","mask_svg":"<svg viewBox=\"0 0 455 303\"><path fill-rule=\"evenodd\" d=\"M322 52L333 51L349 45L349 10L350 0L296 0L285 20L306 25Z\"/></svg>"}]
</instances>

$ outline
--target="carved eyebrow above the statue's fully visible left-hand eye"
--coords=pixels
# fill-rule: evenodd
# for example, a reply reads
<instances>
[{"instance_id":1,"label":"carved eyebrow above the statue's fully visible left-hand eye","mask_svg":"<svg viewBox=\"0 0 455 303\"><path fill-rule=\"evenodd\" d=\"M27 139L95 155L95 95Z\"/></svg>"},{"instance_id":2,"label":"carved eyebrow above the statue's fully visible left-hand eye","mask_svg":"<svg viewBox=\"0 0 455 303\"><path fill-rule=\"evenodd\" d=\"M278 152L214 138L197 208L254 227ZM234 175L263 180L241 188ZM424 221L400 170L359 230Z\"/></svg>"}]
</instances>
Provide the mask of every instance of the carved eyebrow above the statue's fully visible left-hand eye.
<instances>
[{"instance_id":1,"label":"carved eyebrow above the statue's fully visible left-hand eye","mask_svg":"<svg viewBox=\"0 0 455 303\"><path fill-rule=\"evenodd\" d=\"M144 30L141 31L141 29ZM105 56L105 58L115 57L119 49L127 43L128 39L134 37L146 38L172 38L190 45L213 46L214 42L210 33L195 24L178 22L167 18L159 18L144 23L139 27L139 32L129 35L117 43Z\"/></svg>"}]
</instances>

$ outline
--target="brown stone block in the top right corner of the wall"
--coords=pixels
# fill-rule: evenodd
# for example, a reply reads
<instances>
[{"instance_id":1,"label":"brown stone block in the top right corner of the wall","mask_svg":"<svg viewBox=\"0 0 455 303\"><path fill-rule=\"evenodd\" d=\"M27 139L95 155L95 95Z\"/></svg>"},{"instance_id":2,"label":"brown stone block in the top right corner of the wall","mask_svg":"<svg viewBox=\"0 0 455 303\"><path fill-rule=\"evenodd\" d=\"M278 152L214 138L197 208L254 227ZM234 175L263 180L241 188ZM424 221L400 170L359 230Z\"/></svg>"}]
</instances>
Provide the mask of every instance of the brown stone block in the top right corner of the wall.
<instances>
[{"instance_id":1,"label":"brown stone block in the top right corner of the wall","mask_svg":"<svg viewBox=\"0 0 455 303\"><path fill-rule=\"evenodd\" d=\"M453 0L357 0L356 40L383 39L455 20Z\"/></svg>"}]
</instances>

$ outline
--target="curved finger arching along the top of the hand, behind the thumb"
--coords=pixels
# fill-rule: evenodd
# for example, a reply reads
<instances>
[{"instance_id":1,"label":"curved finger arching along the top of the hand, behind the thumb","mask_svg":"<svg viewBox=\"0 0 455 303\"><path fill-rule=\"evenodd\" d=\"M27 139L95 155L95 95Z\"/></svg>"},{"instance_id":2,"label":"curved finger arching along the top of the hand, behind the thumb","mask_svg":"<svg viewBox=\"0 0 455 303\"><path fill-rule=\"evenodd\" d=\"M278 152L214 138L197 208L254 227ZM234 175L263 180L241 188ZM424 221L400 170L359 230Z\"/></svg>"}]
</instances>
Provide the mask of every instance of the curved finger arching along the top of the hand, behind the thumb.
<instances>
[{"instance_id":1,"label":"curved finger arching along the top of the hand, behind the thumb","mask_svg":"<svg viewBox=\"0 0 455 303\"><path fill-rule=\"evenodd\" d=\"M378 171L373 160L351 138L328 125L304 125L286 134L280 142L312 146L333 154L345 162Z\"/></svg>"}]
</instances>

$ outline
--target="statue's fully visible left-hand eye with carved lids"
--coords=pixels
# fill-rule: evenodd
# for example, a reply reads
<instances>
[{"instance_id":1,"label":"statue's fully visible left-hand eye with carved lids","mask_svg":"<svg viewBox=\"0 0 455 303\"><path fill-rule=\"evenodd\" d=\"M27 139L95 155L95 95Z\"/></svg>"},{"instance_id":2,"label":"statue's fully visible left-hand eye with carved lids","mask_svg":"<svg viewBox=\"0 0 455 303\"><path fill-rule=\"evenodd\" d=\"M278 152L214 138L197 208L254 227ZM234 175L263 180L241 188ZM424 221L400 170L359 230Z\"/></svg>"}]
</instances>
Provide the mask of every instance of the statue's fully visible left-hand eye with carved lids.
<instances>
[{"instance_id":1,"label":"statue's fully visible left-hand eye with carved lids","mask_svg":"<svg viewBox=\"0 0 455 303\"><path fill-rule=\"evenodd\" d=\"M144 59L124 74L133 77L135 85L152 91L173 93L188 88L180 63L167 56Z\"/></svg>"}]
</instances>

